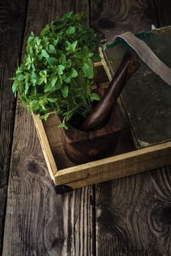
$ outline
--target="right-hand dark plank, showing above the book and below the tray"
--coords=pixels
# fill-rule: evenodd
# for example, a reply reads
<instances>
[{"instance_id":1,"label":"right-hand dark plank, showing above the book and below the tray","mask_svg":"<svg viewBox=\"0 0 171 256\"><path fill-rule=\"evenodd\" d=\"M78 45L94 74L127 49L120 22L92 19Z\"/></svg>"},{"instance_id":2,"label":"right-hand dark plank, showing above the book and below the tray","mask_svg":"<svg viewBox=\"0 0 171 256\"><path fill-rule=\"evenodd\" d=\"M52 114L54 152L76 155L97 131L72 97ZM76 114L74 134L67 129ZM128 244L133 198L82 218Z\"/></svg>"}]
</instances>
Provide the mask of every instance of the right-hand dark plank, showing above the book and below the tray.
<instances>
[{"instance_id":1,"label":"right-hand dark plank, showing above the book and below the tray","mask_svg":"<svg viewBox=\"0 0 171 256\"><path fill-rule=\"evenodd\" d=\"M94 28L108 40L158 24L153 1L92 3ZM170 255L170 170L96 185L96 255Z\"/></svg>"}]
</instances>

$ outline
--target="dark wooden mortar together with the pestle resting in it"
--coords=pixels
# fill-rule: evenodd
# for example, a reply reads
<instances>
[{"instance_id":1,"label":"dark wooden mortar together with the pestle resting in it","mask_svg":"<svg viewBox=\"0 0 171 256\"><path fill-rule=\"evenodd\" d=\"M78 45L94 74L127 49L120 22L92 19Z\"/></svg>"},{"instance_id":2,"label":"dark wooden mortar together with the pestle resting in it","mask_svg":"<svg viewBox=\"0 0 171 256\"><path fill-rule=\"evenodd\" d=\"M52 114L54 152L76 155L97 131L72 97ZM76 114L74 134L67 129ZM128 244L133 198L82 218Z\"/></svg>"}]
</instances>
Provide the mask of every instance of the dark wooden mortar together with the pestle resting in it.
<instances>
[{"instance_id":1,"label":"dark wooden mortar together with the pestle resting in it","mask_svg":"<svg viewBox=\"0 0 171 256\"><path fill-rule=\"evenodd\" d=\"M71 124L67 124L69 129L62 129L64 151L72 162L82 164L102 159L115 151L123 127L115 102L126 81L139 67L137 55L126 53L104 97L83 122L81 129Z\"/></svg>"}]
</instances>

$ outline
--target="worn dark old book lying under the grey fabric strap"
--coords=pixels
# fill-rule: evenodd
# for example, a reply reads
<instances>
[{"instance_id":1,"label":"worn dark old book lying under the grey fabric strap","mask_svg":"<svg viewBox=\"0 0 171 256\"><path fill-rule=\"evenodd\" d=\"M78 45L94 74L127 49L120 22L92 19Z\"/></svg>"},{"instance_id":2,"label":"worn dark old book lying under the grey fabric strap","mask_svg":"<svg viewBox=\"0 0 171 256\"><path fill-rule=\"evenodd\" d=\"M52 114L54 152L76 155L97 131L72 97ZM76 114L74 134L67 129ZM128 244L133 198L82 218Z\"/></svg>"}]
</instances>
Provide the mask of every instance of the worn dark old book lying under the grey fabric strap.
<instances>
[{"instance_id":1,"label":"worn dark old book lying under the grey fabric strap","mask_svg":"<svg viewBox=\"0 0 171 256\"><path fill-rule=\"evenodd\" d=\"M171 26L136 35L171 67ZM113 76L130 47L122 39L110 42L102 50L102 61L109 77ZM134 143L144 148L171 139L171 86L143 61L121 93L120 102L129 117Z\"/></svg>"}]
</instances>

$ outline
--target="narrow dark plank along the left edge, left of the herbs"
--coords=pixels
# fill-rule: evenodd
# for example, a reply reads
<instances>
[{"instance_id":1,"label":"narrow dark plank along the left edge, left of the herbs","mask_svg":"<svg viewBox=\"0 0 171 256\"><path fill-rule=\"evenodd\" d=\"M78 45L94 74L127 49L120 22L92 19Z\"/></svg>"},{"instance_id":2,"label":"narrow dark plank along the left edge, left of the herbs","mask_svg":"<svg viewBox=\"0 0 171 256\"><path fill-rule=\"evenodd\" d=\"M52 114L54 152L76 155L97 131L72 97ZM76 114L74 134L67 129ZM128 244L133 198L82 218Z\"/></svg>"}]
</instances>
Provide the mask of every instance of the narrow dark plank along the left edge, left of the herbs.
<instances>
[{"instance_id":1,"label":"narrow dark plank along the left edge, left of the herbs","mask_svg":"<svg viewBox=\"0 0 171 256\"><path fill-rule=\"evenodd\" d=\"M16 105L9 78L20 58L25 12L26 1L0 3L0 255Z\"/></svg>"}]
</instances>

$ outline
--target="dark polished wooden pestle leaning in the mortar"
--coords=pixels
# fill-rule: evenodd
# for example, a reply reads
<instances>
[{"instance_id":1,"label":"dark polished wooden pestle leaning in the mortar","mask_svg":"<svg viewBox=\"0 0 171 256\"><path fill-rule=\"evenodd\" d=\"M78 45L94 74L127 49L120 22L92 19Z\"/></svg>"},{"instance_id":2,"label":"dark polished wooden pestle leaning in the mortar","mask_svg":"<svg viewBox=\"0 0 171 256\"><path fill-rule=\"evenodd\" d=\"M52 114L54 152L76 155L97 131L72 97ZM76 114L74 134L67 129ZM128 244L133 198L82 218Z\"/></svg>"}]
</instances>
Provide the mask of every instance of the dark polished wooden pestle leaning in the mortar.
<instances>
[{"instance_id":1,"label":"dark polished wooden pestle leaning in the mortar","mask_svg":"<svg viewBox=\"0 0 171 256\"><path fill-rule=\"evenodd\" d=\"M94 107L89 116L83 122L83 131L93 131L102 128L110 118L111 110L119 94L125 86L127 80L140 67L140 62L137 60L137 53L129 51L123 57L118 70L115 72L113 80L104 94L102 100Z\"/></svg>"}]
</instances>

